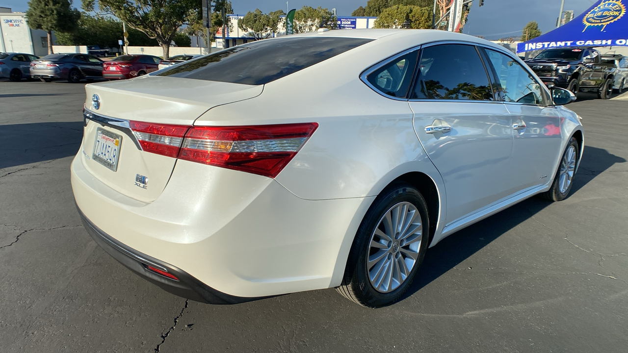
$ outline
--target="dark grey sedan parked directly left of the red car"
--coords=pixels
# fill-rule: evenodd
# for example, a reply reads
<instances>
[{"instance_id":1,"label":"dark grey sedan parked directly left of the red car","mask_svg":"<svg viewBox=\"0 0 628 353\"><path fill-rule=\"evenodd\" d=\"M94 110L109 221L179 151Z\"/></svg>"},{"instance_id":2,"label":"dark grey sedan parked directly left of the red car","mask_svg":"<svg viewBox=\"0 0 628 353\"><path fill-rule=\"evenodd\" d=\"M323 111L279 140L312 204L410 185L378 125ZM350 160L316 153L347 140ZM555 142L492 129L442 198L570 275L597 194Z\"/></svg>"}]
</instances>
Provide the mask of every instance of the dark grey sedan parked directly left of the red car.
<instances>
[{"instance_id":1,"label":"dark grey sedan parked directly left of the red car","mask_svg":"<svg viewBox=\"0 0 628 353\"><path fill-rule=\"evenodd\" d=\"M103 61L89 54L50 54L31 62L33 79L43 82L68 80L78 83L82 79L102 79Z\"/></svg>"}]
</instances>

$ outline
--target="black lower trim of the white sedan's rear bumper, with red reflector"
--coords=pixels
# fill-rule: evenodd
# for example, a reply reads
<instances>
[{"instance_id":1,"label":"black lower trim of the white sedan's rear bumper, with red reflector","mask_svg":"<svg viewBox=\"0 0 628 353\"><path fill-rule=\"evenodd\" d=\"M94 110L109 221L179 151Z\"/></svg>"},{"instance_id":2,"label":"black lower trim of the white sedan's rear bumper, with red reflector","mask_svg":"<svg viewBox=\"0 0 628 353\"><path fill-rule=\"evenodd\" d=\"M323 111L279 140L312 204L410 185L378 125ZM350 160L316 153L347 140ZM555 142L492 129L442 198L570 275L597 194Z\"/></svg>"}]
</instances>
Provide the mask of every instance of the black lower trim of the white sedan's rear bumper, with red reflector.
<instances>
[{"instance_id":1,"label":"black lower trim of the white sedan's rear bumper, with red reflector","mask_svg":"<svg viewBox=\"0 0 628 353\"><path fill-rule=\"evenodd\" d=\"M138 276L144 278L144 280L159 286L165 291L183 298L209 304L236 304L265 298L243 298L241 296L227 295L215 290L214 288L204 285L201 281L197 280L193 276L190 276L190 274L185 271L182 271L171 264L167 264L163 261L152 258L151 256L140 253L139 251L116 241L116 239L112 238L90 222L78 206L77 210L78 214L80 214L85 230L92 237L92 239L94 239L96 244L102 247L102 249L111 255L112 258L126 266L126 268L138 274ZM154 268L173 274L179 279L179 281L171 280L170 278L166 278L160 274L148 271L146 266L153 266Z\"/></svg>"}]
</instances>

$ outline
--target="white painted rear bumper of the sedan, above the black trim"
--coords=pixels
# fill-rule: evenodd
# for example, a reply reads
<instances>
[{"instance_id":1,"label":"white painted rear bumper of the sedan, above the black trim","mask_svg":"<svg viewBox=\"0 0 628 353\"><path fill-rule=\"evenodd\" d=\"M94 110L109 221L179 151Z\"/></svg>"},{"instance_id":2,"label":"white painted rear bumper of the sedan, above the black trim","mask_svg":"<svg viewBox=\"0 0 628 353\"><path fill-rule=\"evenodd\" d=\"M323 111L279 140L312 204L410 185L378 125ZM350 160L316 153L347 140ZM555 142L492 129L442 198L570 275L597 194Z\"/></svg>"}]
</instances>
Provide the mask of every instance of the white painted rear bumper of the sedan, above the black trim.
<instances>
[{"instance_id":1,"label":"white painted rear bumper of the sedan, above the black trim","mask_svg":"<svg viewBox=\"0 0 628 353\"><path fill-rule=\"evenodd\" d=\"M194 300L234 303L340 285L374 199L303 200L264 176L179 160L160 196L144 203L97 180L84 152L71 180L90 227L192 278L176 294L196 293ZM134 271L146 272L141 264Z\"/></svg>"}]
</instances>

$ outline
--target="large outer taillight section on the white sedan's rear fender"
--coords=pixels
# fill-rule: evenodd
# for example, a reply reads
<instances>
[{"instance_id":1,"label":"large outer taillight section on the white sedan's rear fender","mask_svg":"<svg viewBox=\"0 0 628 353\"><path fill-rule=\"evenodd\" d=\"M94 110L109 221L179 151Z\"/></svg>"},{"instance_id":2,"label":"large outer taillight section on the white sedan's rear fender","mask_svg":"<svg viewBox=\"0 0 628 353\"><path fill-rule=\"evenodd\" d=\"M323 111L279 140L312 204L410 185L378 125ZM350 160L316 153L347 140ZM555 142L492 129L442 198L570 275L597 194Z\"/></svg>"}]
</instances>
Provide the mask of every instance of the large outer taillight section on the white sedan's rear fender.
<instances>
[{"instance_id":1,"label":"large outer taillight section on the white sedan's rear fender","mask_svg":"<svg viewBox=\"0 0 628 353\"><path fill-rule=\"evenodd\" d=\"M179 158L274 178L317 128L316 122L195 127L185 134Z\"/></svg>"}]
</instances>

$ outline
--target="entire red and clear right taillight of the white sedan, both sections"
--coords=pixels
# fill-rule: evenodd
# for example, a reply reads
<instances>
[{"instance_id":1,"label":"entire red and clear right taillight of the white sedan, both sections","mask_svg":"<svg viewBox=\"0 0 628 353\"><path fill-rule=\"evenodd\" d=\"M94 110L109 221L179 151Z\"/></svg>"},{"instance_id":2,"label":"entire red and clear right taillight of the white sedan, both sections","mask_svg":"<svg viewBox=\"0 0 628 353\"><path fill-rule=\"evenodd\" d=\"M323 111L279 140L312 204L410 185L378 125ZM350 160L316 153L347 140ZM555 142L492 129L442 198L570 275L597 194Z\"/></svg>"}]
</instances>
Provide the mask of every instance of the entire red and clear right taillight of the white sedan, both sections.
<instances>
[{"instance_id":1,"label":"entire red and clear right taillight of the white sedan, both sections","mask_svg":"<svg viewBox=\"0 0 628 353\"><path fill-rule=\"evenodd\" d=\"M184 126L129 121L142 149L158 155L274 178L316 131L316 122Z\"/></svg>"}]
</instances>

